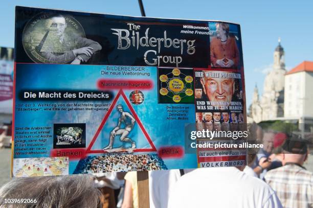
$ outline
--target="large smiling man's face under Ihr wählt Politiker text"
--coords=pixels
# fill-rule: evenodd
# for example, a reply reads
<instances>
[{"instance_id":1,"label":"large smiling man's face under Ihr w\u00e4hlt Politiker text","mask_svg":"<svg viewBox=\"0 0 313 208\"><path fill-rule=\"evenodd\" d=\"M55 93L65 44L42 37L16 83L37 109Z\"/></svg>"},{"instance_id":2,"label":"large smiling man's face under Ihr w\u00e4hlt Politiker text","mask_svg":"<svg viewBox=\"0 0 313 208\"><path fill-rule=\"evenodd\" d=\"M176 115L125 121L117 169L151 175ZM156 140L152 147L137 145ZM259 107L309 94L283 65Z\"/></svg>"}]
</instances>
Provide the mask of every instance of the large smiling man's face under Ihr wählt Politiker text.
<instances>
[{"instance_id":1,"label":"large smiling man's face under Ihr w\u00e4hlt Politiker text","mask_svg":"<svg viewBox=\"0 0 313 208\"><path fill-rule=\"evenodd\" d=\"M235 91L235 82L233 78L222 77L222 74L225 75L228 72L220 72L219 77L207 77L204 72L204 77L200 82L209 101L230 103ZM213 105L218 104L213 103Z\"/></svg>"}]
</instances>

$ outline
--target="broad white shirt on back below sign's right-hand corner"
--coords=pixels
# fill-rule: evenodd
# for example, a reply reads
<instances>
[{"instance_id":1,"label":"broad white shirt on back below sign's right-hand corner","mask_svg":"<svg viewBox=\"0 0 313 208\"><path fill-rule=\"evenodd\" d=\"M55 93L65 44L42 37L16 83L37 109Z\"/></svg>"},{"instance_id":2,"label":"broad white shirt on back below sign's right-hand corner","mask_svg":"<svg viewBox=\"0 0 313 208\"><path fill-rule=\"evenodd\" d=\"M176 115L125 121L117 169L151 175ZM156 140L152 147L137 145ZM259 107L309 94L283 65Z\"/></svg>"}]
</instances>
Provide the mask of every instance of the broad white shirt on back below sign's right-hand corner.
<instances>
[{"instance_id":1,"label":"broad white shirt on back below sign's right-hand corner","mask_svg":"<svg viewBox=\"0 0 313 208\"><path fill-rule=\"evenodd\" d=\"M168 207L282 207L264 181L235 167L196 169L173 186Z\"/></svg>"}]
</instances>

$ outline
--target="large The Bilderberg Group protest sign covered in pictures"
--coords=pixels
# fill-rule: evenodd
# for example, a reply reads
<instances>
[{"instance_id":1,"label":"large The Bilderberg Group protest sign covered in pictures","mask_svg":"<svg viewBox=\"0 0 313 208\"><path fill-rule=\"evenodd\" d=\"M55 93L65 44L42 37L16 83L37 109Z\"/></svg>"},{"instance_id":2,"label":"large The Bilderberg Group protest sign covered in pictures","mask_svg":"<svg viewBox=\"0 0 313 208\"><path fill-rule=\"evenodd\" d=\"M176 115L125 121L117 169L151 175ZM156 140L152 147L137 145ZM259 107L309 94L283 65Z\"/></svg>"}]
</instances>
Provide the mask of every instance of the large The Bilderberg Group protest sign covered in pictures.
<instances>
[{"instance_id":1,"label":"large The Bilderberg Group protest sign covered in pictures","mask_svg":"<svg viewBox=\"0 0 313 208\"><path fill-rule=\"evenodd\" d=\"M245 164L184 134L245 122L239 25L16 7L15 34L13 176Z\"/></svg>"}]
</instances>

